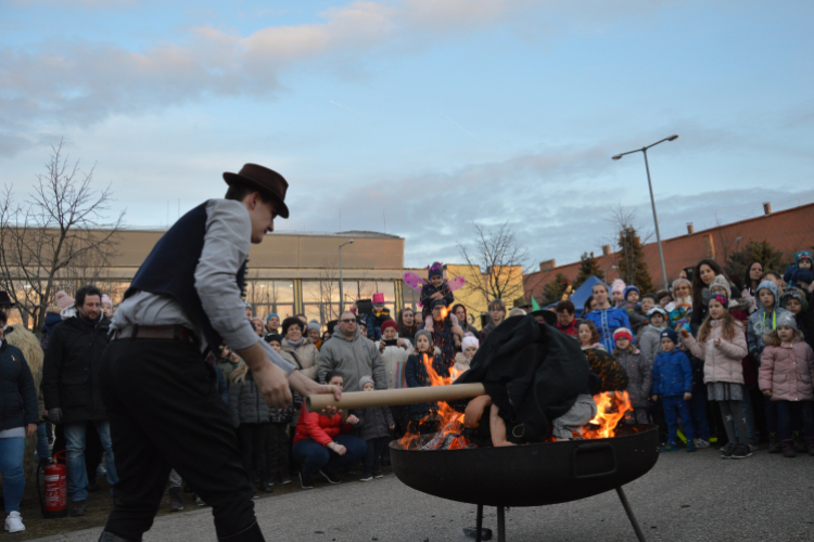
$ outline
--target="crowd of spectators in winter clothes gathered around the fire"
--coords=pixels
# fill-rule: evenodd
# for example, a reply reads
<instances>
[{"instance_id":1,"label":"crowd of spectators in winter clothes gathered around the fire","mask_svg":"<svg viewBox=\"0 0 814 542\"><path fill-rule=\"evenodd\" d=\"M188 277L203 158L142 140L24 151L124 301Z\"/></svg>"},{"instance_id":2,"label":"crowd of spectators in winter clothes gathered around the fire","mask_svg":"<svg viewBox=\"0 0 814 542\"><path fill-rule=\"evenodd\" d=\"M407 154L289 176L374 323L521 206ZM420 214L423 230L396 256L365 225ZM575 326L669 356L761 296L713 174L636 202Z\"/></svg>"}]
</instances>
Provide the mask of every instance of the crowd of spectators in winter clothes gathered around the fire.
<instances>
[{"instance_id":1,"label":"crowd of spectators in winter clothes gathered around the fire","mask_svg":"<svg viewBox=\"0 0 814 542\"><path fill-rule=\"evenodd\" d=\"M420 313L405 307L393 318L377 294L372 307L358 304L325 332L303 314L264 319L250 304L245 314L255 333L303 375L345 391L372 391L430 385L428 359L438 375L465 373L482 341L504 322L530 312L578 344L602 391L627 391L632 410L624 422L658 424L662 452L682 446L694 452L714 437L725 459L749 457L760 442L786 457L814 455L810 251L798 253L784 275L755 261L742 279L728 276L717 262L703 259L682 271L669 291L643 294L619 280L610 286L598 282L581 318L569 299L550 310L535 301L531 309L520 304L511 311L496 299L481 331L455 302L442 267L429 269ZM43 462L65 450L73 516L87 513L97 476L106 476L111 486L117 481L99 386L113 310L94 286L73 298L60 292L36 349L26 343L30 332L7 326L8 314L0 312L0 473L11 532L24 529L20 502L27 437L36 435ZM236 352L224 347L208 361L256 493L295 479L304 489L314 488L315 479L340 483L341 470L374 480L390 461L390 440L433 430L425 422L437 405L429 403L329 416L307 412L303 397L292 391L289 406L271 408ZM595 413L592 397L580 396L569 415L555 421L554 435L580 438ZM174 472L170 509L183 509L183 489Z\"/></svg>"}]
</instances>

